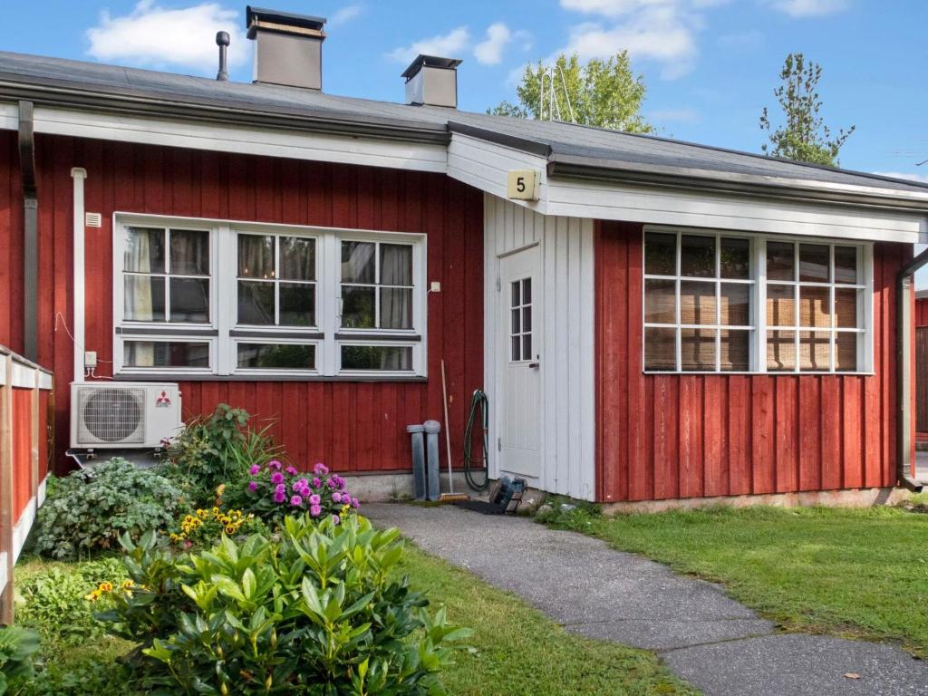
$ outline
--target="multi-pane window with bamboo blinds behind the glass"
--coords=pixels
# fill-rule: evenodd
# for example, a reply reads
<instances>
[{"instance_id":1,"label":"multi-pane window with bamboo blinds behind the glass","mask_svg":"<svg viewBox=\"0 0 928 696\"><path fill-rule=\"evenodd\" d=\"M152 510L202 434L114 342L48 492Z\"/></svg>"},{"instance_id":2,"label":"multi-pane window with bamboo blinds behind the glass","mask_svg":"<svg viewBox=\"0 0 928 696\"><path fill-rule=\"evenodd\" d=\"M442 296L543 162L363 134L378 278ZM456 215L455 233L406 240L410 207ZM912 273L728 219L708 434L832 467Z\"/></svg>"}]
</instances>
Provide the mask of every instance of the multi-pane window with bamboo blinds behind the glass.
<instances>
[{"instance_id":1,"label":"multi-pane window with bamboo blinds behind the glass","mask_svg":"<svg viewBox=\"0 0 928 696\"><path fill-rule=\"evenodd\" d=\"M645 369L866 370L869 254L869 245L648 231Z\"/></svg>"}]
</instances>

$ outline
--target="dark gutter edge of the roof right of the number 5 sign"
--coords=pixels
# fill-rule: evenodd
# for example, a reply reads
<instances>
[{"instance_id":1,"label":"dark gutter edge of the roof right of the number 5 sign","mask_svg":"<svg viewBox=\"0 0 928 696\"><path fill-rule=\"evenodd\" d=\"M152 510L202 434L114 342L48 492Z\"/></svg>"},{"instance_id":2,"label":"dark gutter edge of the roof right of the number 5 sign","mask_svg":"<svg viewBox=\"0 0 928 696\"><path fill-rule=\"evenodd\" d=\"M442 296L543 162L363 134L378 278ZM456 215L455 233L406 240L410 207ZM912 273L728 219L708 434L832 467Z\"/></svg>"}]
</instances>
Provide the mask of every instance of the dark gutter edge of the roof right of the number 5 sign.
<instances>
[{"instance_id":1,"label":"dark gutter edge of the roof right of the number 5 sign","mask_svg":"<svg viewBox=\"0 0 928 696\"><path fill-rule=\"evenodd\" d=\"M900 213L928 212L928 191L905 192L876 187L812 182L802 179L666 167L637 162L602 161L552 154L548 176L614 182L642 187L711 191L738 196L892 209Z\"/></svg>"}]
</instances>

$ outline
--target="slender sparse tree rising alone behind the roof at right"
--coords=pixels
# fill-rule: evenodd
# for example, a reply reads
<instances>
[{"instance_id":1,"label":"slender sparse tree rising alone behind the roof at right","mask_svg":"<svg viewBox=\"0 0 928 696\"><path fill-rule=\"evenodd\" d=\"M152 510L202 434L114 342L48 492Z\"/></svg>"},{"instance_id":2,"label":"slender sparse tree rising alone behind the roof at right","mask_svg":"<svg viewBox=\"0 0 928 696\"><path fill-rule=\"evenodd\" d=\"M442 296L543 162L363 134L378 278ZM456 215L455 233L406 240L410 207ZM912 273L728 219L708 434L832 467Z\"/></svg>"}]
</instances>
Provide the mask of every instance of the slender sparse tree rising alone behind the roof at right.
<instances>
[{"instance_id":1,"label":"slender sparse tree rising alone behind the roof at right","mask_svg":"<svg viewBox=\"0 0 928 696\"><path fill-rule=\"evenodd\" d=\"M821 66L813 60L806 62L801 53L791 53L780 71L782 84L773 90L780 102L784 123L772 129L767 107L760 116L760 128L767 132L770 140L761 146L768 155L785 157L789 160L807 161L814 164L838 166L838 151L844 141L854 133L856 126L838 131L832 137L831 129L822 121L818 111L818 80ZM769 146L772 145L772 148Z\"/></svg>"}]
</instances>

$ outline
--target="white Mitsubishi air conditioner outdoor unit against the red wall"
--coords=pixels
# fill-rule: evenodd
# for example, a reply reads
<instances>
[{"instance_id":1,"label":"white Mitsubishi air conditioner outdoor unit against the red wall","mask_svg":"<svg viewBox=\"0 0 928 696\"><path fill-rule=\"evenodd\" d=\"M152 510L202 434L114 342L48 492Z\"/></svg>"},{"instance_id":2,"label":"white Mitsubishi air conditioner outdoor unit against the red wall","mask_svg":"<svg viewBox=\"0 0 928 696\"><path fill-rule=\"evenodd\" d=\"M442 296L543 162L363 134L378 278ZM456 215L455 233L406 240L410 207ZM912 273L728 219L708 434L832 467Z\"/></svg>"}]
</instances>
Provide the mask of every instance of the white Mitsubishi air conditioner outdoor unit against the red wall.
<instances>
[{"instance_id":1,"label":"white Mitsubishi air conditioner outdoor unit against the red wall","mask_svg":"<svg viewBox=\"0 0 928 696\"><path fill-rule=\"evenodd\" d=\"M176 384L71 382L72 448L160 447L182 426Z\"/></svg>"}]
</instances>

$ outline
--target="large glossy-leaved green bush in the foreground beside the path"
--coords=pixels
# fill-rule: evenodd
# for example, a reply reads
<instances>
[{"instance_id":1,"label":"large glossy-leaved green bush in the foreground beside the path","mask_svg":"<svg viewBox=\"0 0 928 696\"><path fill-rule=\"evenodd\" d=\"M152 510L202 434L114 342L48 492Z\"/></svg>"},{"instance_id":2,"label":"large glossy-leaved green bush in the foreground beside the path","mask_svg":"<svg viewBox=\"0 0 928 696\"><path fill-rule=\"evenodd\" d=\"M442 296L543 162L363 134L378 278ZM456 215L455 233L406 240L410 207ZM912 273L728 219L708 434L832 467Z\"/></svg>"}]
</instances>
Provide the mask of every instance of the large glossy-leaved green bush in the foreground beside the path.
<instances>
[{"instance_id":1,"label":"large glossy-leaved green bush in the foreground beside the path","mask_svg":"<svg viewBox=\"0 0 928 696\"><path fill-rule=\"evenodd\" d=\"M469 635L426 611L407 578L390 579L398 531L364 518L288 517L279 543L225 535L173 558L126 538L131 595L100 614L122 638L146 688L201 694L442 693L449 643Z\"/></svg>"}]
</instances>

